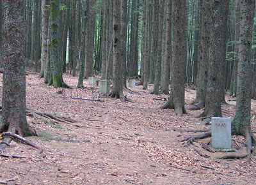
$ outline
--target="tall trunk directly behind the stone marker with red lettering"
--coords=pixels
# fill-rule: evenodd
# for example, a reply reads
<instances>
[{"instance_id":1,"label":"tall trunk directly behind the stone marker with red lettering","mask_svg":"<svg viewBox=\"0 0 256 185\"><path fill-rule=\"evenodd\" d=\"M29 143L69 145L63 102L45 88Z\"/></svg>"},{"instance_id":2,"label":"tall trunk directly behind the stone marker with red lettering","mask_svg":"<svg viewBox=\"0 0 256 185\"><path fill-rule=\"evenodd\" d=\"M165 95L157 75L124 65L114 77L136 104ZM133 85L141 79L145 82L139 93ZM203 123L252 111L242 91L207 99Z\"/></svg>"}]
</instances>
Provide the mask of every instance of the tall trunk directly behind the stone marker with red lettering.
<instances>
[{"instance_id":1,"label":"tall trunk directly behind the stone marker with red lettering","mask_svg":"<svg viewBox=\"0 0 256 185\"><path fill-rule=\"evenodd\" d=\"M222 63L225 55L227 22L225 12L228 11L228 1L212 0L212 29L210 38L209 71L207 92L203 117L221 117L221 83L223 82Z\"/></svg>"}]
</instances>

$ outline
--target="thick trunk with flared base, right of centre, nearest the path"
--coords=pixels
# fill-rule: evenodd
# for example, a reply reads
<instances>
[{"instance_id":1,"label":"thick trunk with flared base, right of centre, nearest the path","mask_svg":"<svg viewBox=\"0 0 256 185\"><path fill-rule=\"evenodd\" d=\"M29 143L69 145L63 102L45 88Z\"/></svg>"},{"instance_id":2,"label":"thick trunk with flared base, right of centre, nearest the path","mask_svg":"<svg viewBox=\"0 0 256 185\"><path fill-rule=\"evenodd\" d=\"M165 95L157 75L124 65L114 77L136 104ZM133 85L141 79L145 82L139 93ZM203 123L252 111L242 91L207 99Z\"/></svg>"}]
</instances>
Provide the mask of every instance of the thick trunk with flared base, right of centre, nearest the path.
<instances>
[{"instance_id":1,"label":"thick trunk with flared base, right of centre, nearest the path","mask_svg":"<svg viewBox=\"0 0 256 185\"><path fill-rule=\"evenodd\" d=\"M167 18L168 20L168 18ZM177 114L186 113L185 103L185 65L187 37L186 0L173 1L173 64L171 94L162 108L174 108ZM168 26L166 27L166 31ZM167 34L167 33L166 33ZM167 37L166 37L167 39ZM166 50L165 52L168 52Z\"/></svg>"}]
</instances>

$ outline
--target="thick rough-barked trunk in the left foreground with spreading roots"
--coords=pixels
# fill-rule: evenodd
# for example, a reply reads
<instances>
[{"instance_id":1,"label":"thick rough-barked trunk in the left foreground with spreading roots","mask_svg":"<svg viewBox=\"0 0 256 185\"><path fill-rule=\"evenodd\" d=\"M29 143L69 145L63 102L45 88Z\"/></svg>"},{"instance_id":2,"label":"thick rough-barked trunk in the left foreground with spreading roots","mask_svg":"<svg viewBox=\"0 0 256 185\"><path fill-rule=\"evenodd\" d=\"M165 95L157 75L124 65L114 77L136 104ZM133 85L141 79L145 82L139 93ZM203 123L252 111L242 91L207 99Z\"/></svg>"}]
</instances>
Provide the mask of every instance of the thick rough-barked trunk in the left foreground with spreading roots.
<instances>
[{"instance_id":1,"label":"thick rough-barked trunk in the left foreground with spreading roots","mask_svg":"<svg viewBox=\"0 0 256 185\"><path fill-rule=\"evenodd\" d=\"M36 135L26 119L25 1L4 0L3 11L3 117L0 133L8 131L24 137ZM10 140L4 138L0 149L4 149Z\"/></svg>"}]
</instances>

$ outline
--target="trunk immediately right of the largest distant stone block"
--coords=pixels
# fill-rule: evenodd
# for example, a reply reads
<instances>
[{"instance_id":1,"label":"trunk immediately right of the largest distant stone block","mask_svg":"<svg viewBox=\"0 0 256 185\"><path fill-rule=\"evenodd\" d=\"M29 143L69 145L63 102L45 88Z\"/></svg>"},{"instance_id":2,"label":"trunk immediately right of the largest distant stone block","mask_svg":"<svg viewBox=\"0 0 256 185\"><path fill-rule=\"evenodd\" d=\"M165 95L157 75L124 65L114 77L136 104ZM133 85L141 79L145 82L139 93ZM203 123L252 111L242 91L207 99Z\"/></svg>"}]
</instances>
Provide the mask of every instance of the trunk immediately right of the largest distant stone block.
<instances>
[{"instance_id":1,"label":"trunk immediately right of the largest distant stone block","mask_svg":"<svg viewBox=\"0 0 256 185\"><path fill-rule=\"evenodd\" d=\"M121 74L121 63L120 63L120 43L121 43L121 15L120 0L113 0L113 61L114 61L114 73L113 73L113 89L109 94L112 98L122 98L123 96L123 85L122 85L122 74Z\"/></svg>"}]
</instances>

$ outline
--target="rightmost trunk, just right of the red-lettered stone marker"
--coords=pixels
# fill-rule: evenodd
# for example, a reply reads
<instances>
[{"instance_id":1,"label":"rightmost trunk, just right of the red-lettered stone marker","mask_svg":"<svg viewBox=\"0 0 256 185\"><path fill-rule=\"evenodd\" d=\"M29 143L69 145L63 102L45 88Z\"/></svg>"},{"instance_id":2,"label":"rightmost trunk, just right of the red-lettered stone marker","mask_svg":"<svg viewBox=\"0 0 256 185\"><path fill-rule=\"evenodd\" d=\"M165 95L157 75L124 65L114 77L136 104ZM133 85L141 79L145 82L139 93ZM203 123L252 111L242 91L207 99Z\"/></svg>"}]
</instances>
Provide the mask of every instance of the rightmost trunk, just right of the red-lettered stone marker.
<instances>
[{"instance_id":1,"label":"rightmost trunk, just right of the red-lettered stone marker","mask_svg":"<svg viewBox=\"0 0 256 185\"><path fill-rule=\"evenodd\" d=\"M256 144L251 130L251 84L252 84L252 28L254 17L254 0L241 1L240 37L237 71L236 114L232 121L232 134L246 138L248 159L251 157L252 145Z\"/></svg>"}]
</instances>

